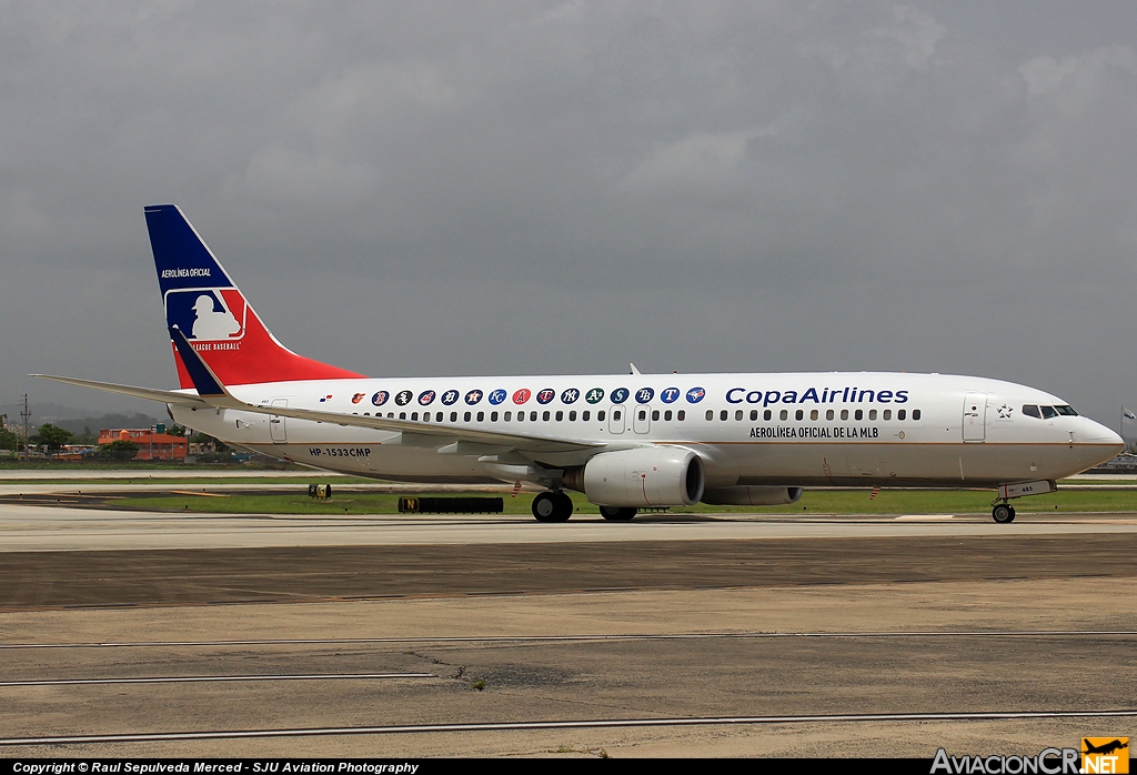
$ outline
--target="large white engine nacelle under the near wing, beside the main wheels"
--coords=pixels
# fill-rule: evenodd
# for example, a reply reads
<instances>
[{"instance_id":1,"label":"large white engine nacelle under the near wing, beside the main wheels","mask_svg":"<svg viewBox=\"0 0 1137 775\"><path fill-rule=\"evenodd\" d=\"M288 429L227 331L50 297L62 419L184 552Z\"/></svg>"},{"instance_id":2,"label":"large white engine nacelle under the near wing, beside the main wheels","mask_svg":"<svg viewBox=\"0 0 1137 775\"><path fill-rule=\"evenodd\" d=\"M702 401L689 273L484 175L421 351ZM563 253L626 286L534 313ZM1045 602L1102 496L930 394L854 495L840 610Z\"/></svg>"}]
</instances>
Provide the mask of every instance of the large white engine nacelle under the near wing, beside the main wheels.
<instances>
[{"instance_id":1,"label":"large white engine nacelle under the near wing, beside the main wheels","mask_svg":"<svg viewBox=\"0 0 1137 775\"><path fill-rule=\"evenodd\" d=\"M695 506L703 497L703 460L680 447L639 447L601 452L583 472L566 472L564 485L583 490L597 506Z\"/></svg>"}]
</instances>

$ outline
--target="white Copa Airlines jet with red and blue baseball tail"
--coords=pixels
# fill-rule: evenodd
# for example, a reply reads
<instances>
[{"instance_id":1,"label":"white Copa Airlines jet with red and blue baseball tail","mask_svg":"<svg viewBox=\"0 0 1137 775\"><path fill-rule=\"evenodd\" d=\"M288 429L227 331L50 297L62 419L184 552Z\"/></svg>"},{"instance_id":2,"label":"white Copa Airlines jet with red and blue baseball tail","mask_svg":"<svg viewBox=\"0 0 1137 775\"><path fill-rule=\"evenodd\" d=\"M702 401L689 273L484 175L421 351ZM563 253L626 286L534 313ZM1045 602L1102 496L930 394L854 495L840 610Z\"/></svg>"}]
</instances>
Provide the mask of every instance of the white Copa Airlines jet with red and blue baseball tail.
<instances>
[{"instance_id":1,"label":"white Copa Airlines jet with red and blue baseball tail","mask_svg":"<svg viewBox=\"0 0 1137 775\"><path fill-rule=\"evenodd\" d=\"M166 405L226 444L389 481L537 484L539 522L583 492L639 509L794 503L804 488L993 489L1012 499L1109 460L1120 436L1056 395L941 374L375 378L268 331L177 206L144 208L179 390L33 375Z\"/></svg>"}]
</instances>

